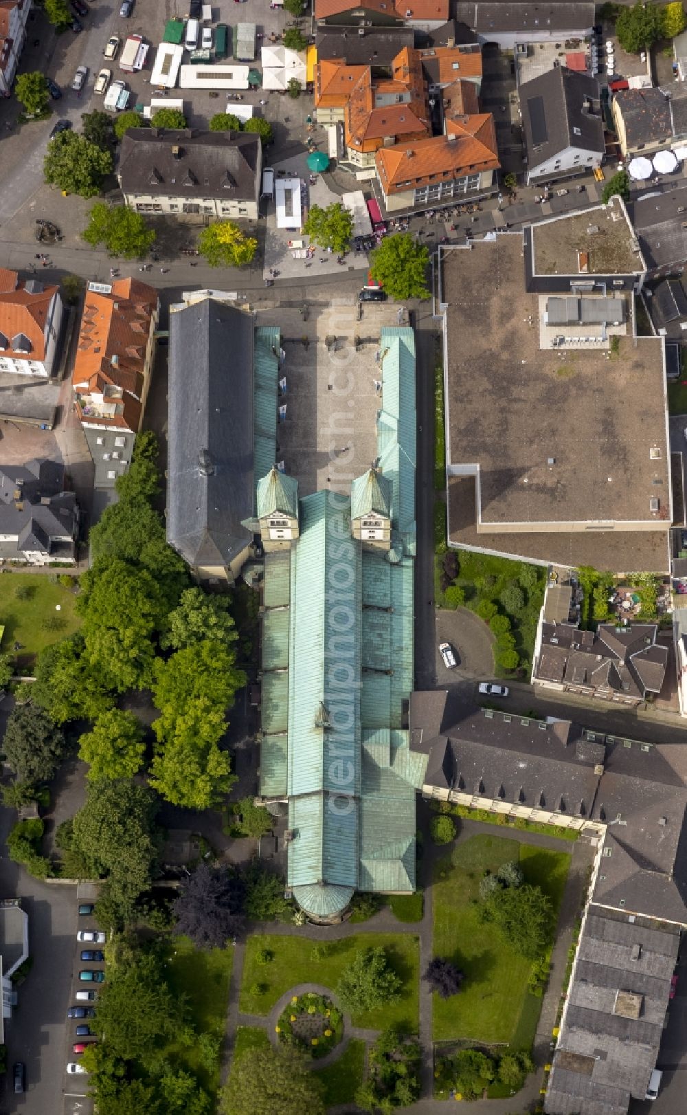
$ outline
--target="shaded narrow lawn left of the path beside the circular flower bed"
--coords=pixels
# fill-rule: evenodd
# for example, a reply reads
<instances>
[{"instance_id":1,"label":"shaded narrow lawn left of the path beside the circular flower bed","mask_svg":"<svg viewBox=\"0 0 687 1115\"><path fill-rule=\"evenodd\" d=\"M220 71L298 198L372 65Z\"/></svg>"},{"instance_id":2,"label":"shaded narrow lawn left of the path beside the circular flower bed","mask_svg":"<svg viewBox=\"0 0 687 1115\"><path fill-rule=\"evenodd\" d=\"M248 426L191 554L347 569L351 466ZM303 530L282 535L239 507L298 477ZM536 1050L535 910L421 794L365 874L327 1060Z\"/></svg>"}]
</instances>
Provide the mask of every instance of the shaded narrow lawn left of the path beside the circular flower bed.
<instances>
[{"instance_id":1,"label":"shaded narrow lawn left of the path beside the circular flower bed","mask_svg":"<svg viewBox=\"0 0 687 1115\"><path fill-rule=\"evenodd\" d=\"M229 977L234 950L194 948L187 937L175 937L168 951L168 981L176 995L185 995L192 1021L199 1034L215 1034L222 1040L226 1027ZM179 1067L195 1073L204 1088L214 1096L219 1087L219 1061L212 1068L203 1064L194 1046L173 1045L166 1050Z\"/></svg>"}]
</instances>

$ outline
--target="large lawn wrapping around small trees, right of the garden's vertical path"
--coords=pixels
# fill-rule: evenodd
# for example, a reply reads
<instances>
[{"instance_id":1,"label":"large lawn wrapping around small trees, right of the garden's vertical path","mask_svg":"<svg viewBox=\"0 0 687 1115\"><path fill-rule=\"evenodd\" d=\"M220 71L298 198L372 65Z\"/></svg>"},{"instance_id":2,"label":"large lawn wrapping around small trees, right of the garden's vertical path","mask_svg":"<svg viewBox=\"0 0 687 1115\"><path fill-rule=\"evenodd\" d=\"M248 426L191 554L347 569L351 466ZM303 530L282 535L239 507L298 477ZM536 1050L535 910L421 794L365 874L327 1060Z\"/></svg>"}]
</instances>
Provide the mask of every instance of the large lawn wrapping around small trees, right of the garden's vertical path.
<instances>
[{"instance_id":1,"label":"large lawn wrapping around small trees, right of the garden's vertical path","mask_svg":"<svg viewBox=\"0 0 687 1115\"><path fill-rule=\"evenodd\" d=\"M459 995L434 996L434 1040L465 1038L488 1045L532 1043L541 999L527 989L531 963L483 923L473 901L484 871L519 860L558 910L570 866L567 852L549 852L503 836L472 836L439 861L434 874L434 954L451 958L464 975Z\"/></svg>"}]
</instances>

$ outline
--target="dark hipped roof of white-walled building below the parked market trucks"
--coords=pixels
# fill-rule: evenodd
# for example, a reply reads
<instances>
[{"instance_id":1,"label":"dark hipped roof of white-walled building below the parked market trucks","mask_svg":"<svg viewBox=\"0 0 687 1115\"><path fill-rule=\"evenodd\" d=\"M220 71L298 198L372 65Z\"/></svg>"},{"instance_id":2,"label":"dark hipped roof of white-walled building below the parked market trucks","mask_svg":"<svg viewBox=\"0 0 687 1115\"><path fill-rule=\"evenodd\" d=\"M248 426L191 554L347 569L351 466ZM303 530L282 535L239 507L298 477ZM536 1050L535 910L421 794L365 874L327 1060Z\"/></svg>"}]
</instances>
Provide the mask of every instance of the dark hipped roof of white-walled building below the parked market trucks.
<instances>
[{"instance_id":1,"label":"dark hipped roof of white-walled building below the parked market trucks","mask_svg":"<svg viewBox=\"0 0 687 1115\"><path fill-rule=\"evenodd\" d=\"M249 132L130 128L121 140L119 182L125 194L256 201L259 148L259 136Z\"/></svg>"}]
</instances>

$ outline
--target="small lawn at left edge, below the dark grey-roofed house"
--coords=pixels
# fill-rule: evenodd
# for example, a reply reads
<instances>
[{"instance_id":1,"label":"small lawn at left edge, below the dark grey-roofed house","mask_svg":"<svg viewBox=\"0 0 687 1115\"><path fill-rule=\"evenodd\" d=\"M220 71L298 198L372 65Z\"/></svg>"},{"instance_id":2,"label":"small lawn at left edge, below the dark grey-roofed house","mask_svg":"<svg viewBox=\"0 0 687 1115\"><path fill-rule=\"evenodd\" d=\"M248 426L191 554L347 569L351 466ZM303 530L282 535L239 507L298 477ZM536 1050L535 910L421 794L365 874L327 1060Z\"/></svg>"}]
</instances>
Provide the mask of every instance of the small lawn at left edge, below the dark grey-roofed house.
<instances>
[{"instance_id":1,"label":"small lawn at left edge, below the dark grey-roofed house","mask_svg":"<svg viewBox=\"0 0 687 1115\"><path fill-rule=\"evenodd\" d=\"M20 666L30 665L33 657L58 639L71 634L81 620L75 613L76 595L62 584L53 584L48 573L11 573L1 578L0 623L4 634L0 650L12 652L16 642L22 644L18 651ZM17 599L17 589L30 591L28 600ZM59 612L56 605L60 605ZM57 621L57 627L46 627Z\"/></svg>"}]
</instances>

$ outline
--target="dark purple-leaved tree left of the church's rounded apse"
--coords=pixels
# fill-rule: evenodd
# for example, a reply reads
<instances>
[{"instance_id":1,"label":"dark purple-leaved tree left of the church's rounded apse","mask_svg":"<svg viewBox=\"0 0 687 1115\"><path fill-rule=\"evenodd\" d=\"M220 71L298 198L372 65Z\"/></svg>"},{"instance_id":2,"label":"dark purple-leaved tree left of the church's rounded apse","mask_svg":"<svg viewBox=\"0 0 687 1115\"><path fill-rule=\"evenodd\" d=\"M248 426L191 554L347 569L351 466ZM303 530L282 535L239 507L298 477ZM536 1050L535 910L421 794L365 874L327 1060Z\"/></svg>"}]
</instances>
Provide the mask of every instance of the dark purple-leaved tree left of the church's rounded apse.
<instances>
[{"instance_id":1,"label":"dark purple-leaved tree left of the church's rounded apse","mask_svg":"<svg viewBox=\"0 0 687 1115\"><path fill-rule=\"evenodd\" d=\"M175 933L186 933L198 948L223 948L243 927L245 886L232 867L200 863L174 902Z\"/></svg>"}]
</instances>

